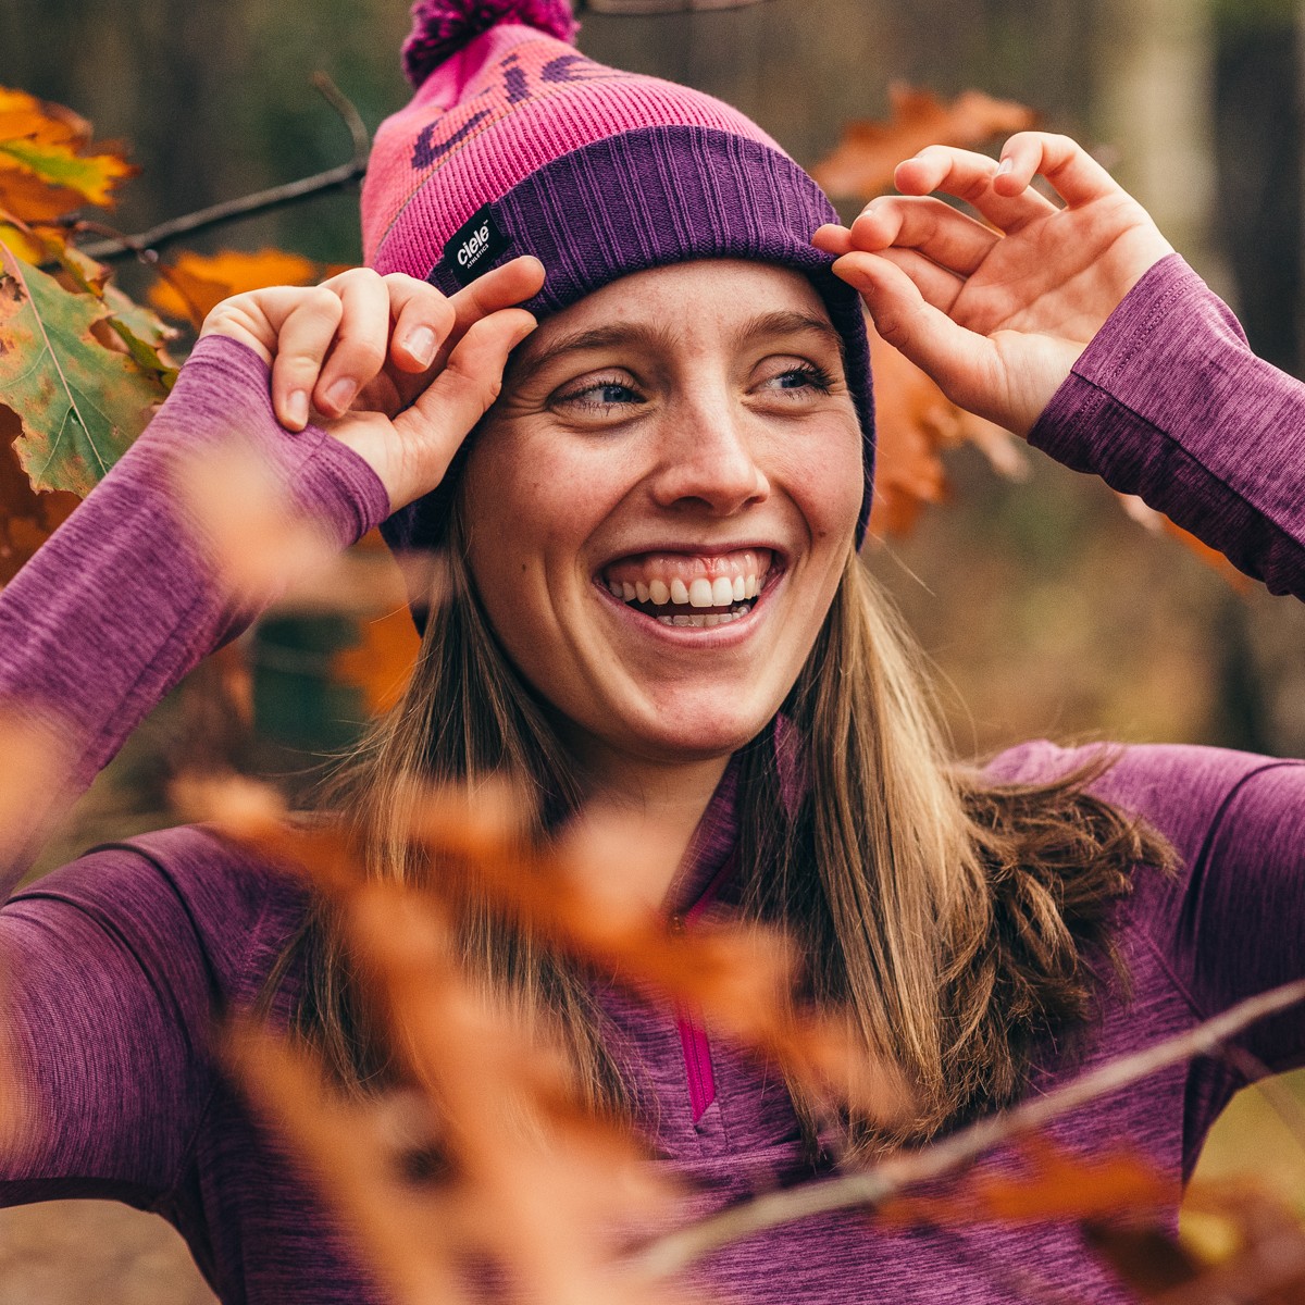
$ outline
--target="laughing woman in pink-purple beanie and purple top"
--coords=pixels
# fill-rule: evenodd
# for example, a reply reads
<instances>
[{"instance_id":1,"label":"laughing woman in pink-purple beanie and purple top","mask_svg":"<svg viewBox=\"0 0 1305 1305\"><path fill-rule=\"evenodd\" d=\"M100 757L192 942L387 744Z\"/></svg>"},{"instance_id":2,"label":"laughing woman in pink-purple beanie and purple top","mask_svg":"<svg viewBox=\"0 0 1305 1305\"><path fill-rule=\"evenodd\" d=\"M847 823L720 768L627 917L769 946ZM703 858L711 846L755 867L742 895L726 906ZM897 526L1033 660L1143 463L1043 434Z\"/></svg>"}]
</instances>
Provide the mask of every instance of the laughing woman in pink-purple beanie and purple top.
<instances>
[{"instance_id":1,"label":"laughing woman in pink-purple beanie and purple top","mask_svg":"<svg viewBox=\"0 0 1305 1305\"><path fill-rule=\"evenodd\" d=\"M1255 364L1146 215L1069 142L1023 136L1000 167L925 151L904 198L827 226L732 110L583 60L555 3L474 7L479 26L470 8L419 7L420 89L364 192L384 279L214 313L147 435L5 592L7 701L57 714L85 779L230 634L166 470L236 428L341 542L386 518L397 545L449 557L452 599L419 606L422 663L359 780L377 874L424 872L392 833L414 774L508 770L547 826L582 803L655 821L664 855L638 890L792 928L813 996L851 1005L908 1074L908 1141L1296 976L1301 766L1034 744L958 767L855 557L873 454L860 291L955 398L1305 591L1305 526L1275 476L1298 454L1203 420ZM1064 211L1028 191L1036 171ZM923 198L936 188L1005 236ZM1160 325L1172 354L1139 364ZM1301 403L1276 377L1262 389L1278 416ZM0 1195L157 1210L228 1301L376 1298L207 1045L215 1013L261 1001L367 1074L369 1031L301 893L174 830L43 880L0 929L46 1122ZM501 924L472 932L472 963L543 994L595 1101L630 1111L711 1203L822 1163L804 1104L746 1058ZM1301 1021L1242 1045L1293 1064ZM1126 1135L1177 1185L1241 1081L1176 1069L1053 1131ZM848 1130L863 1154L895 1141ZM1125 1298L1074 1228L895 1236L851 1215L731 1248L711 1284L1006 1301L1045 1298L1044 1262L1079 1298Z\"/></svg>"}]
</instances>

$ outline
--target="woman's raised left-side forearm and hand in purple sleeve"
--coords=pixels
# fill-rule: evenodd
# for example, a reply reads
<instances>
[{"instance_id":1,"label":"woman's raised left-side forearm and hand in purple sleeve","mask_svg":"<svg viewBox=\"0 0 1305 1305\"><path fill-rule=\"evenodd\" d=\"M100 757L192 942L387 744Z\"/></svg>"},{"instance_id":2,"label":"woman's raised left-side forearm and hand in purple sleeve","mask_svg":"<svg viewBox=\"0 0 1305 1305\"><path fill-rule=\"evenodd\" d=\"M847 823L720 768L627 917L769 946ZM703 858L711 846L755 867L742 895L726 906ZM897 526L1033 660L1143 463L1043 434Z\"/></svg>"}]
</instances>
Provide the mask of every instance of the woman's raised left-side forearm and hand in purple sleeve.
<instances>
[{"instance_id":1,"label":"woman's raised left-side forearm and hand in purple sleeve","mask_svg":"<svg viewBox=\"0 0 1305 1305\"><path fill-rule=\"evenodd\" d=\"M517 260L445 300L423 282L359 270L214 309L149 429L0 595L5 895L63 805L253 615L230 598L204 513L177 489L179 465L200 508L221 504L241 491L221 483L221 458L204 459L239 437L241 457L251 450L282 487L287 523L351 543L442 479L534 328L510 304L542 281L538 262ZM428 350L412 346L422 331ZM305 427L309 395L325 416ZM42 756L18 754L18 739Z\"/></svg>"}]
</instances>

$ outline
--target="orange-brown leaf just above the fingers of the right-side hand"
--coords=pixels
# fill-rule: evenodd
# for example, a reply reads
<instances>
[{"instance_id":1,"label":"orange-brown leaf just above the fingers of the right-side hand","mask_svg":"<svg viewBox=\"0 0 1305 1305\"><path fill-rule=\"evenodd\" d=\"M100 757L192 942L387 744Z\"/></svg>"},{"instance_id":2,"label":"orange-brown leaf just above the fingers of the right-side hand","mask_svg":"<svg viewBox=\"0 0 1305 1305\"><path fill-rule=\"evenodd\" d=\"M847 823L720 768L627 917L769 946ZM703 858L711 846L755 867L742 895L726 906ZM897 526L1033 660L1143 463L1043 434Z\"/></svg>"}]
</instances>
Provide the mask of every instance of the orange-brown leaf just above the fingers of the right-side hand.
<instances>
[{"instance_id":1,"label":"orange-brown leaf just above the fingers of the right-side hand","mask_svg":"<svg viewBox=\"0 0 1305 1305\"><path fill-rule=\"evenodd\" d=\"M834 197L873 200L893 185L903 159L927 145L981 145L1034 125L1031 108L967 90L950 104L932 91L894 84L885 121L853 121L834 151L812 168L812 176Z\"/></svg>"}]
</instances>

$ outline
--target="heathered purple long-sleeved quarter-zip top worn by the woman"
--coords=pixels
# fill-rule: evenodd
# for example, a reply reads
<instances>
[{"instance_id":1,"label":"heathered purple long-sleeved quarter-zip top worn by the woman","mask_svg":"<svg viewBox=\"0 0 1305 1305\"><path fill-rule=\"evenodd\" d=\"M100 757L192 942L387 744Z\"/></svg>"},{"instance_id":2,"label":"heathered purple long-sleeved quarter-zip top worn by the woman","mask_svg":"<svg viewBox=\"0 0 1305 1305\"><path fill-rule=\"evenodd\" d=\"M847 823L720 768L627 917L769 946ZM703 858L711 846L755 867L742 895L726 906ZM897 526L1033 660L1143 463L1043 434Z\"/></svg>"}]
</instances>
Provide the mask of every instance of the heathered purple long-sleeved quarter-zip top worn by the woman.
<instances>
[{"instance_id":1,"label":"heathered purple long-sleeved quarter-zip top worn by the woman","mask_svg":"<svg viewBox=\"0 0 1305 1305\"><path fill-rule=\"evenodd\" d=\"M1171 322L1165 348L1139 351L1156 304ZM266 381L252 375L249 355L210 347L198 363L147 438L202 436L209 418L200 414L226 420L243 408L262 414L278 448L294 442L271 425ZM1235 401L1238 385L1245 393ZM1169 393L1184 402L1169 403ZM1081 420L1084 405L1094 408L1092 424ZM1220 412L1236 420L1212 431L1210 418ZM1155 506L1275 587L1305 592L1305 388L1251 359L1221 305L1181 262L1167 261L1134 290L1035 433L1083 468L1108 467L1120 488L1147 487ZM376 485L356 459L318 445L308 463L303 497L320 504L342 538L375 519ZM132 723L124 685L147 676L150 694L161 692L227 630L202 568L171 534L159 542L168 513L155 463L137 455L115 475L117 497L93 496L74 517L78 531L56 536L31 564L21 609L13 611L12 591L0 598L0 685L46 702L70 694L77 728L97 757L108 756ZM128 526L125 510L134 512ZM65 600L67 586L78 596ZM137 626L145 621L154 633L142 641ZM158 672L150 663L164 652L170 669ZM56 656L61 671L52 668ZM1037 779L1078 760L1035 743L993 769ZM690 848L676 906L693 900L735 843L732 775ZM1099 788L1169 837L1181 873L1167 880L1139 868L1120 917L1135 996L1125 1002L1108 990L1081 1054L1053 1056L1031 1091L1305 971L1305 765L1203 748L1129 748ZM157 1210L180 1228L230 1302L378 1301L209 1051L214 1011L260 989L303 908L294 886L210 833L180 829L98 850L0 911L18 1060L48 1121L42 1147L0 1173L0 1199L112 1195ZM279 993L274 1015L288 1010L295 981ZM616 993L603 1001L636 1057L660 1163L699 1184L703 1208L809 1176L774 1075L714 1045L716 1099L696 1126L673 1013ZM1248 1034L1244 1047L1267 1066L1296 1065L1305 1023L1300 1014L1282 1017ZM1177 1189L1241 1083L1227 1062L1199 1061L1067 1116L1052 1131L1075 1151L1139 1148ZM1017 1163L997 1155L987 1165ZM696 1285L776 1305L1126 1300L1073 1225L891 1233L855 1215L731 1248Z\"/></svg>"}]
</instances>

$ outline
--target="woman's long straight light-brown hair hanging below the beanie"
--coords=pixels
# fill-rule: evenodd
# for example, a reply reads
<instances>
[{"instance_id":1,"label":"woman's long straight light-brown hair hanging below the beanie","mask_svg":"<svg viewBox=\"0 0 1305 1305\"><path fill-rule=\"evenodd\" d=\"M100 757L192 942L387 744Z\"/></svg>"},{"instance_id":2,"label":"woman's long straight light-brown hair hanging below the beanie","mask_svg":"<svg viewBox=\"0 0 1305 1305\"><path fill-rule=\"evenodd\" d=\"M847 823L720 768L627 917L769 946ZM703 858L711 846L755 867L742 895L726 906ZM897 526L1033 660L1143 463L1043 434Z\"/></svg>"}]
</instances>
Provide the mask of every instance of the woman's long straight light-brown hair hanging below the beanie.
<instances>
[{"instance_id":1,"label":"woman's long straight light-brown hair hanging below the beanie","mask_svg":"<svg viewBox=\"0 0 1305 1305\"><path fill-rule=\"evenodd\" d=\"M502 652L466 565L461 508L449 594L431 616L403 699L360 750L346 804L372 873L438 873L402 833L412 780L510 776L538 796L539 833L581 800L547 713ZM850 1010L867 1048L912 1083L919 1111L891 1137L851 1120L853 1155L920 1142L1024 1087L1039 1049L1064 1045L1122 971L1113 906L1134 867L1165 865L1164 842L1092 796L1109 765L1041 784L994 783L949 757L920 655L855 555L782 709L800 801L776 749L740 758L744 910L804 947L810 997ZM493 911L466 907L468 963L523 1009L552 1017L596 1109L628 1108L585 975ZM269 980L305 970L299 1024L351 1083L384 1051L360 1015L334 921L318 910ZM816 1109L795 1090L808 1135Z\"/></svg>"}]
</instances>

